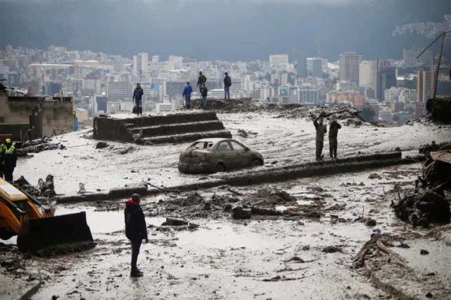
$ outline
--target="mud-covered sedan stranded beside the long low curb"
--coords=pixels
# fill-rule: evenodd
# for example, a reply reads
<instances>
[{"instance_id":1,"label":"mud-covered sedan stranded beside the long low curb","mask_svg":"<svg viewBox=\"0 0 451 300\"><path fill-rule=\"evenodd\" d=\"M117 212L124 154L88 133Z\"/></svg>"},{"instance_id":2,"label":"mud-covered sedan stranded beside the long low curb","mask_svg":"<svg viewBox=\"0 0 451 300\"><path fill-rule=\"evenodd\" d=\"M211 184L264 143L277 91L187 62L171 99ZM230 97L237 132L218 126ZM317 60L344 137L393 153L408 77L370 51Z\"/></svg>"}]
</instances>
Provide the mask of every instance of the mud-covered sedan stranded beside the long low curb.
<instances>
[{"instance_id":1,"label":"mud-covered sedan stranded beside the long low curb","mask_svg":"<svg viewBox=\"0 0 451 300\"><path fill-rule=\"evenodd\" d=\"M202 138L180 152L181 172L223 172L262 165L262 154L230 138Z\"/></svg>"}]
</instances>

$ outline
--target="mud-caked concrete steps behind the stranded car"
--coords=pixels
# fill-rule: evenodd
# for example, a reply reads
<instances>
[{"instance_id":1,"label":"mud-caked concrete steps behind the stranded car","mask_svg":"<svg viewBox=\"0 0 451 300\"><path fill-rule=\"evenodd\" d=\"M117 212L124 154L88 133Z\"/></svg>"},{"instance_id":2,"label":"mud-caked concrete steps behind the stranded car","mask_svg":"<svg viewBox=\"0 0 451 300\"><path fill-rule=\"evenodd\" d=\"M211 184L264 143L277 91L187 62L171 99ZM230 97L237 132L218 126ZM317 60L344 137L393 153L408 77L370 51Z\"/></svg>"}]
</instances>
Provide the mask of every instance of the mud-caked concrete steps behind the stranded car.
<instances>
[{"instance_id":1,"label":"mud-caked concrete steps behind the stranded car","mask_svg":"<svg viewBox=\"0 0 451 300\"><path fill-rule=\"evenodd\" d=\"M213 111L150 115L102 115L94 118L93 137L144 143L186 142L203 137L232 137Z\"/></svg>"}]
</instances>

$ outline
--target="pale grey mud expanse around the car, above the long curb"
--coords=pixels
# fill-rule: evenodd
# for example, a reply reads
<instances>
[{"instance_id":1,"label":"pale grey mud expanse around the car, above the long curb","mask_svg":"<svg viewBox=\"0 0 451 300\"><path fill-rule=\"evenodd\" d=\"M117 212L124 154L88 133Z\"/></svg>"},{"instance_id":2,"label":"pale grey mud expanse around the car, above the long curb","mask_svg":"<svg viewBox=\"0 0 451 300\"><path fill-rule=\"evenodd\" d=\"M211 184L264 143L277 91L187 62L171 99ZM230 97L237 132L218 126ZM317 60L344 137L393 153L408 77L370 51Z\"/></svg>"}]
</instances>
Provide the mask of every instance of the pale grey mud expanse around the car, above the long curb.
<instances>
[{"instance_id":1,"label":"pale grey mud expanse around the car, above the long curb","mask_svg":"<svg viewBox=\"0 0 451 300\"><path fill-rule=\"evenodd\" d=\"M299 164L313 161L315 153L315 128L311 121L279 117L271 113L221 113L218 114L234 138L265 157L263 168ZM345 121L343 121L344 123ZM248 137L237 134L239 129L249 133ZM451 126L404 125L401 127L374 127L361 125L343 126L338 134L338 156L354 156L360 153L393 151L399 147L403 154L417 152L422 143L451 140ZM142 146L108 142L109 147L96 149L97 140L87 138L92 132L81 131L58 136L64 150L49 150L35 153L31 159L20 159L15 170L18 178L24 175L33 184L49 173L55 176L57 193L73 195L84 183L88 192L108 191L126 184L149 181L167 187L195 183L200 178L208 180L216 175L181 174L177 170L178 154L188 144L163 144ZM328 157L328 140L324 151ZM126 154L120 151L133 146Z\"/></svg>"}]
</instances>

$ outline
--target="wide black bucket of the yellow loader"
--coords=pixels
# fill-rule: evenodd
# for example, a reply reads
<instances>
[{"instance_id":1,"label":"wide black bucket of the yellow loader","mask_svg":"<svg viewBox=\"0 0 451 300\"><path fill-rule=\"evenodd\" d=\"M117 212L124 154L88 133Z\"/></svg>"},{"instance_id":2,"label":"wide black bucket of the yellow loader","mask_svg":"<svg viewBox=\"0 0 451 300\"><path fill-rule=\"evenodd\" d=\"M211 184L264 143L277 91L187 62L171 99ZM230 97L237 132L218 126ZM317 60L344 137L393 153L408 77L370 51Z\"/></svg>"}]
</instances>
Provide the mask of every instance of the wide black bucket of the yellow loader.
<instances>
[{"instance_id":1,"label":"wide black bucket of the yellow loader","mask_svg":"<svg viewBox=\"0 0 451 300\"><path fill-rule=\"evenodd\" d=\"M86 213L27 219L17 237L19 250L51 255L93 248Z\"/></svg>"}]
</instances>

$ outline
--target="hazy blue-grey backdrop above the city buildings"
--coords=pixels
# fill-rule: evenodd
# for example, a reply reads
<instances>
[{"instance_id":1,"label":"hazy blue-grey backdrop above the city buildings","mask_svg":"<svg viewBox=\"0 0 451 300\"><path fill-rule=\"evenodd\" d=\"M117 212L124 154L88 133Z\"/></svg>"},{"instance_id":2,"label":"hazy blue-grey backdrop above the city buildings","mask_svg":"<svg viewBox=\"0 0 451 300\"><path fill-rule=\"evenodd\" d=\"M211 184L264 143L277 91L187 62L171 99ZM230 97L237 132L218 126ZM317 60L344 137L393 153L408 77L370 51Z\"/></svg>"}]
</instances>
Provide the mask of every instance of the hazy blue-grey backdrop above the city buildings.
<instances>
[{"instance_id":1,"label":"hazy blue-grey backdrop above the city buildings","mask_svg":"<svg viewBox=\"0 0 451 300\"><path fill-rule=\"evenodd\" d=\"M451 0L0 0L0 6L2 48L55 44L230 60L267 60L271 53L335 60L340 51L400 58L404 47L430 41L421 24L445 23L443 15L451 14Z\"/></svg>"}]
</instances>

